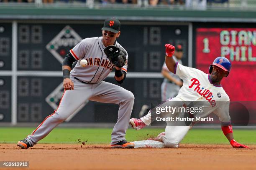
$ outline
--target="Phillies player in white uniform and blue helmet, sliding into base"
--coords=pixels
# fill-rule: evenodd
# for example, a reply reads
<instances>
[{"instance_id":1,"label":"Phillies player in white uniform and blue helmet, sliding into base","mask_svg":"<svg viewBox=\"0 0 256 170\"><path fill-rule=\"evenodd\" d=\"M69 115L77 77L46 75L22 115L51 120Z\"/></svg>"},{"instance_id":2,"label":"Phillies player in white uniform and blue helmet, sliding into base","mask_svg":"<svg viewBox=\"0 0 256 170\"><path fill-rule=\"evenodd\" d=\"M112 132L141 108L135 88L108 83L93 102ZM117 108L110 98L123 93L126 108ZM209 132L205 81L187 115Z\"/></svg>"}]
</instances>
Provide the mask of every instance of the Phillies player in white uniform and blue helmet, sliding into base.
<instances>
[{"instance_id":1,"label":"Phillies player in white uniform and blue helmet, sliding into base","mask_svg":"<svg viewBox=\"0 0 256 170\"><path fill-rule=\"evenodd\" d=\"M188 101L202 102L202 113L198 113L196 117L206 117L211 112L218 115L222 124L222 130L233 148L248 148L246 145L237 143L233 138L233 130L230 123L229 116L229 97L220 85L223 77L227 77L231 63L225 57L217 57L210 65L210 74L205 74L201 70L191 67L185 67L179 62L175 62L172 58L175 47L166 44L166 57L165 63L168 69L174 74L178 75L183 80L183 86L179 90L176 97L168 99L162 105L169 105L171 107L186 107ZM161 105L160 105L161 106ZM175 112L172 116L177 116L181 113ZM136 130L144 128L151 123L151 118L154 117L151 110L148 114L140 119L132 118L130 124ZM179 143L187 134L188 130L192 127L190 125L179 125L177 122L167 122L164 133L160 133L156 138L151 140L158 140L164 143L165 147L178 148Z\"/></svg>"}]
</instances>

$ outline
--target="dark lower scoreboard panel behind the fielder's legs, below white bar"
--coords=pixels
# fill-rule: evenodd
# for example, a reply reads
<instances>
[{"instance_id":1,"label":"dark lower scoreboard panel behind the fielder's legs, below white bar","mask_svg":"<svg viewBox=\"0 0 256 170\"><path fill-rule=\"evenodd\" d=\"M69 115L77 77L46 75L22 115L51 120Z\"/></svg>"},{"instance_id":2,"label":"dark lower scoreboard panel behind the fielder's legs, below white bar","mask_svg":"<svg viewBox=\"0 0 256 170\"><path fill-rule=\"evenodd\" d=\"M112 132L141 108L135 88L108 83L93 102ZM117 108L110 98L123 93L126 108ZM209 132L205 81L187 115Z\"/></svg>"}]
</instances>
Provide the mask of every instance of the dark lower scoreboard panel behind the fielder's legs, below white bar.
<instances>
[{"instance_id":1,"label":"dark lower scoreboard panel behind the fielder's legs, below white bar","mask_svg":"<svg viewBox=\"0 0 256 170\"><path fill-rule=\"evenodd\" d=\"M64 92L62 80L62 77L18 77L18 122L41 122L53 113ZM118 85L114 77L108 77L105 81ZM141 106L146 102L161 98L162 81L159 78L126 78L121 84L136 96L133 108L135 116L138 116ZM2 94L1 91L0 94ZM10 93L8 94L10 100ZM117 119L118 107L115 104L86 101L77 108L72 119L68 120L70 122L113 122Z\"/></svg>"}]
</instances>

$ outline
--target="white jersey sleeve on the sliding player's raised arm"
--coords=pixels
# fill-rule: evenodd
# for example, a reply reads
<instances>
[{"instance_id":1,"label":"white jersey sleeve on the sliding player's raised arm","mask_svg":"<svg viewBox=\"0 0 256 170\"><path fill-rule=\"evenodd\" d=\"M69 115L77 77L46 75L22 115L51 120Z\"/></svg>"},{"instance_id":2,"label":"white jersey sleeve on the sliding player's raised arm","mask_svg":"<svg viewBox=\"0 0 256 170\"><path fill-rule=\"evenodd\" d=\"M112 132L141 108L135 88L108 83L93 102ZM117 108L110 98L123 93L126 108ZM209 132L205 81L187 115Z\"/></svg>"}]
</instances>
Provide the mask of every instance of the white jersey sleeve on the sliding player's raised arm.
<instances>
[{"instance_id":1,"label":"white jersey sleeve on the sliding player's raised arm","mask_svg":"<svg viewBox=\"0 0 256 170\"><path fill-rule=\"evenodd\" d=\"M174 74L178 75L182 80L186 80L188 77L195 75L197 73L204 73L201 70L192 67L186 67L184 65L179 64L176 62L174 68Z\"/></svg>"}]
</instances>

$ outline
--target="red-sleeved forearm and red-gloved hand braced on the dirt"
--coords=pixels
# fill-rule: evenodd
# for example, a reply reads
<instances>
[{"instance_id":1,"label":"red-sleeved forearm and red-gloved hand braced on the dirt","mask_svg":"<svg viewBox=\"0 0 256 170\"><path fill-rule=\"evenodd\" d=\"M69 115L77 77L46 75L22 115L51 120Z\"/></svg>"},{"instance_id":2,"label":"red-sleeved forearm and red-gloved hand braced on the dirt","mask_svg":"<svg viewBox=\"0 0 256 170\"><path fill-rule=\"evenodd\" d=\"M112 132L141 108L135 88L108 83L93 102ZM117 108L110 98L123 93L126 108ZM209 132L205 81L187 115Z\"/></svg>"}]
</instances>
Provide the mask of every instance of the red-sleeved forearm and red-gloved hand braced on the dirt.
<instances>
[{"instance_id":1,"label":"red-sleeved forearm and red-gloved hand braced on the dirt","mask_svg":"<svg viewBox=\"0 0 256 170\"><path fill-rule=\"evenodd\" d=\"M230 145L233 146L233 148L249 148L248 146L240 144L240 143L236 142L236 140L234 140L233 130L232 130L231 125L221 126L221 129L222 129L224 135L226 136L226 138L228 139L228 141L230 142Z\"/></svg>"}]
</instances>

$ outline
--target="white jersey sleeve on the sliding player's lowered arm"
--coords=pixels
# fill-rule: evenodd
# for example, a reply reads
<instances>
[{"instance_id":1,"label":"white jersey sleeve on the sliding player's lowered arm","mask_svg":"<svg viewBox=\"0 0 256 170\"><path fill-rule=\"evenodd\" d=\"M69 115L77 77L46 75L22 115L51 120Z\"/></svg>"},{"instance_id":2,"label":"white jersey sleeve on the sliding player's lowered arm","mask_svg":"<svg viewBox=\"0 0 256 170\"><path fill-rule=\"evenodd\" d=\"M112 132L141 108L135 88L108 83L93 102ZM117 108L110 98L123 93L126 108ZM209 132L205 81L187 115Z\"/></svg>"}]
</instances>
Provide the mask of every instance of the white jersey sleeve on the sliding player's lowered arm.
<instances>
[{"instance_id":1,"label":"white jersey sleeve on the sliding player's lowered arm","mask_svg":"<svg viewBox=\"0 0 256 170\"><path fill-rule=\"evenodd\" d=\"M229 116L229 101L220 101L220 107L213 111L219 117L221 125L228 126L231 124Z\"/></svg>"}]
</instances>

